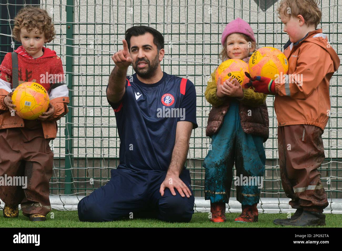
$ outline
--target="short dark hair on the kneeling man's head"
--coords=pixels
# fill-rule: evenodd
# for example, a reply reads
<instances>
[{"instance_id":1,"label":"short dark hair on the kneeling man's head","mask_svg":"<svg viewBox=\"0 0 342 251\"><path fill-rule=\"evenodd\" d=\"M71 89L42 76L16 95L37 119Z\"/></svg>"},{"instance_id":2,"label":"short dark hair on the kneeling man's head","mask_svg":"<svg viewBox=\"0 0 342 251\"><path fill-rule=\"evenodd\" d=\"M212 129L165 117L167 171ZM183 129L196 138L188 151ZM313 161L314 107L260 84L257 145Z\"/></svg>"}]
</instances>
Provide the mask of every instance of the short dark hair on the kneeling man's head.
<instances>
[{"instance_id":1,"label":"short dark hair on the kneeling man's head","mask_svg":"<svg viewBox=\"0 0 342 251\"><path fill-rule=\"evenodd\" d=\"M141 25L133 26L126 30L125 40L127 41L129 51L131 48L131 37L141 36L144 35L146 32L151 33L153 35L153 43L157 46L158 52L160 49L164 48L164 37L162 36L162 34L152 27Z\"/></svg>"}]
</instances>

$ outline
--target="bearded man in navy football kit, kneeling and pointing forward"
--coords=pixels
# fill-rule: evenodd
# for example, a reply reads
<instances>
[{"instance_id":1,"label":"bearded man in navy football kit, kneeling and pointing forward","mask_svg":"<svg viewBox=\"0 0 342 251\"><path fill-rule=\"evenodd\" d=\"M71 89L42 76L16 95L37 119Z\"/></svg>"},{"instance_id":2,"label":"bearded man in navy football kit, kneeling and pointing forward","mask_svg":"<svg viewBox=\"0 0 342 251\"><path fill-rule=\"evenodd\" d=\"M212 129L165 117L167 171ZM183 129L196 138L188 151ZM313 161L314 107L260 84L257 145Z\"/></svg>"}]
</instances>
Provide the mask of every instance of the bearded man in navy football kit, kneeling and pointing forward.
<instances>
[{"instance_id":1,"label":"bearded man in navy football kit, kneeling and pointing forward","mask_svg":"<svg viewBox=\"0 0 342 251\"><path fill-rule=\"evenodd\" d=\"M197 128L195 86L161 70L159 31L133 26L125 35L123 50L112 56L115 68L106 90L120 137L120 164L106 185L81 199L79 219L189 222L195 198L184 163ZM127 76L131 64L136 73Z\"/></svg>"}]
</instances>

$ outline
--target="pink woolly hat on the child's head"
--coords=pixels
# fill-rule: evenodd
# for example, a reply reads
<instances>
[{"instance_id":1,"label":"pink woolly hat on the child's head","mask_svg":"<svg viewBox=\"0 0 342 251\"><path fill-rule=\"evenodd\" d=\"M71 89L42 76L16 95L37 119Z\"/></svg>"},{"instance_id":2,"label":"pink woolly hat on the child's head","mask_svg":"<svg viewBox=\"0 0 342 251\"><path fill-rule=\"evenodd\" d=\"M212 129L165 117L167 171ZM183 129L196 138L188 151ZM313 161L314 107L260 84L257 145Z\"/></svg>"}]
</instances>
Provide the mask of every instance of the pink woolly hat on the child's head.
<instances>
[{"instance_id":1,"label":"pink woolly hat on the child's head","mask_svg":"<svg viewBox=\"0 0 342 251\"><path fill-rule=\"evenodd\" d=\"M250 37L252 41L256 42L252 27L245 20L242 20L239 17L234 19L229 24L227 24L226 28L224 28L224 31L222 32L222 39L221 39L222 46L224 46L223 44L226 38L232 33L245 34L248 37Z\"/></svg>"}]
</instances>

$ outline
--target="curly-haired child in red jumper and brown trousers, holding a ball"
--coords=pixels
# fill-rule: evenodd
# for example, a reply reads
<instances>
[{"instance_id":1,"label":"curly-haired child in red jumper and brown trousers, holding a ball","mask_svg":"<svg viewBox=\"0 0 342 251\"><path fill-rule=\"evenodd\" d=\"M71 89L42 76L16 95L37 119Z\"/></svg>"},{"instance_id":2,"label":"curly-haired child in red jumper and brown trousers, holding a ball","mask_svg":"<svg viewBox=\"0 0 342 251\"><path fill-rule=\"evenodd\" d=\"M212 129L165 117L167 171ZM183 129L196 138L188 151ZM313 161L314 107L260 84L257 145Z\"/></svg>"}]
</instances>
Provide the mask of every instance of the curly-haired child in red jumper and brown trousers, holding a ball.
<instances>
[{"instance_id":1,"label":"curly-haired child in red jumper and brown trousers, holding a ball","mask_svg":"<svg viewBox=\"0 0 342 251\"><path fill-rule=\"evenodd\" d=\"M7 53L0 65L0 176L22 178L21 185L0 185L5 218L18 217L18 204L31 221L44 221L51 211L53 152L49 142L56 137L56 121L68 112L69 103L62 60L43 46L54 36L52 19L45 10L32 6L19 10L13 37L22 46ZM49 94L49 108L37 120L14 113L13 90L24 82L39 83Z\"/></svg>"}]
</instances>

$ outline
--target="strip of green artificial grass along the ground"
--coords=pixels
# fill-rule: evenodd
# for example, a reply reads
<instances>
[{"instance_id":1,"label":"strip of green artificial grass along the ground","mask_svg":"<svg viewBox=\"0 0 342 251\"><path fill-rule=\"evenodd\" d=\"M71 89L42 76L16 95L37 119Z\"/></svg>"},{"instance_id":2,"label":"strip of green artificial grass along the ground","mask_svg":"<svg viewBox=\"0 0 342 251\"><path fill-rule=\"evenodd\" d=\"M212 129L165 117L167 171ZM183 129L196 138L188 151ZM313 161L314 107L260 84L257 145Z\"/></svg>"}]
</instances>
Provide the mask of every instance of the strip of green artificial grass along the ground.
<instances>
[{"instance_id":1,"label":"strip of green artificial grass along the ground","mask_svg":"<svg viewBox=\"0 0 342 251\"><path fill-rule=\"evenodd\" d=\"M51 212L53 219L51 219ZM273 220L286 218L287 214L260 213L259 221L255 223L234 222L239 213L227 213L227 221L224 223L213 223L208 219L208 213L195 213L189 223L168 223L157 219L122 219L111 222L80 222L77 211L52 210L44 222L30 222L26 216L19 211L19 217L3 218L0 212L0 227L294 227L279 226L273 224ZM326 226L318 227L341 227L342 214L325 214Z\"/></svg>"}]
</instances>

